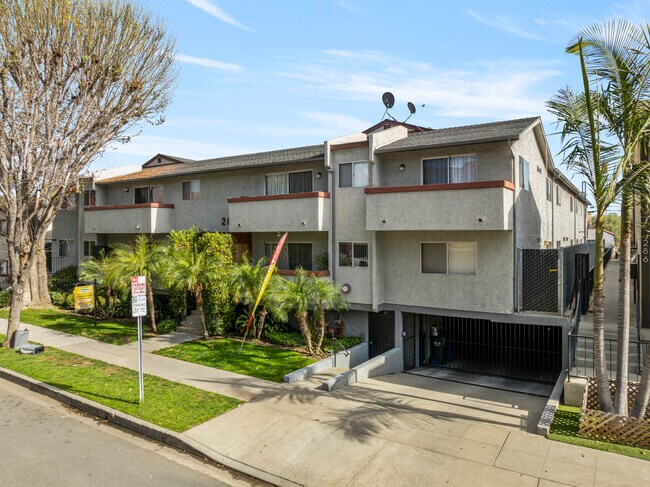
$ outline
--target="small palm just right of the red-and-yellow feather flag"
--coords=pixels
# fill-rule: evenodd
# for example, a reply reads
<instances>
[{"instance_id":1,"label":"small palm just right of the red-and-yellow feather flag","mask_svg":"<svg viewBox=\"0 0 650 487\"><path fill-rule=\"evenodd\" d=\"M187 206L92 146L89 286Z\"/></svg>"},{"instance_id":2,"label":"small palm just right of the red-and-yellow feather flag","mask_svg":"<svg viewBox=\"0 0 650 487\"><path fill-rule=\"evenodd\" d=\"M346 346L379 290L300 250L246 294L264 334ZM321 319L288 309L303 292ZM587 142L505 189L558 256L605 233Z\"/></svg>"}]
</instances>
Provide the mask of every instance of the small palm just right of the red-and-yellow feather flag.
<instances>
[{"instance_id":1,"label":"small palm just right of the red-and-yellow feather flag","mask_svg":"<svg viewBox=\"0 0 650 487\"><path fill-rule=\"evenodd\" d=\"M311 331L309 330L309 312L317 307L318 301L314 279L310 273L302 268L296 269L295 279L280 279L271 294L277 303L276 314L279 319L286 321L289 312L294 312L305 340L307 353L314 355Z\"/></svg>"}]
</instances>

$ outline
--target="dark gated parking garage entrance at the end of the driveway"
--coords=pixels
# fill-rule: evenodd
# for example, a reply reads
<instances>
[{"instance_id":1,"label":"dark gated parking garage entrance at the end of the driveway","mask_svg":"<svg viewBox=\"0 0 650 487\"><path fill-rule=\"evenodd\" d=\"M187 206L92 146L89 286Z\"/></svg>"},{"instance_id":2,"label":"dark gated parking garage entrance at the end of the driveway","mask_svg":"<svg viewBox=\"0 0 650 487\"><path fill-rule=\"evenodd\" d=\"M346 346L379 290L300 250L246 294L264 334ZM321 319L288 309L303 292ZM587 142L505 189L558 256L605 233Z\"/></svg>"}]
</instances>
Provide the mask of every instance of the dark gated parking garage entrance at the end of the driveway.
<instances>
[{"instance_id":1,"label":"dark gated parking garage entrance at the end of the driveway","mask_svg":"<svg viewBox=\"0 0 650 487\"><path fill-rule=\"evenodd\" d=\"M430 366L555 382L562 327L404 313L404 369Z\"/></svg>"}]
</instances>

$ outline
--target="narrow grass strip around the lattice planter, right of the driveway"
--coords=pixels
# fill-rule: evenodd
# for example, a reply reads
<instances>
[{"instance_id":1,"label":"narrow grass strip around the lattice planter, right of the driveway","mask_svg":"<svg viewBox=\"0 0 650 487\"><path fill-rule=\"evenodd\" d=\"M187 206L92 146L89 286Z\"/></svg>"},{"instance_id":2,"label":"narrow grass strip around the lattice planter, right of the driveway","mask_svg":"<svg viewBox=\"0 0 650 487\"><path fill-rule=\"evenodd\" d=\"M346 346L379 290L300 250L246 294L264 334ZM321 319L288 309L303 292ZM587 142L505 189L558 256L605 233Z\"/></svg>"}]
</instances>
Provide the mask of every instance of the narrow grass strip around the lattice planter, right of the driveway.
<instances>
[{"instance_id":1,"label":"narrow grass strip around the lattice planter, right of the driveway","mask_svg":"<svg viewBox=\"0 0 650 487\"><path fill-rule=\"evenodd\" d=\"M555 413L555 417L553 418L553 424L551 424L551 431L548 434L548 438L563 443L569 443L571 445L586 446L587 448L594 448L595 450L608 451L611 453L618 453L619 455L650 461L650 450L645 448L617 445L614 443L590 440L578 436L579 419L580 408L564 405L559 406Z\"/></svg>"}]
</instances>

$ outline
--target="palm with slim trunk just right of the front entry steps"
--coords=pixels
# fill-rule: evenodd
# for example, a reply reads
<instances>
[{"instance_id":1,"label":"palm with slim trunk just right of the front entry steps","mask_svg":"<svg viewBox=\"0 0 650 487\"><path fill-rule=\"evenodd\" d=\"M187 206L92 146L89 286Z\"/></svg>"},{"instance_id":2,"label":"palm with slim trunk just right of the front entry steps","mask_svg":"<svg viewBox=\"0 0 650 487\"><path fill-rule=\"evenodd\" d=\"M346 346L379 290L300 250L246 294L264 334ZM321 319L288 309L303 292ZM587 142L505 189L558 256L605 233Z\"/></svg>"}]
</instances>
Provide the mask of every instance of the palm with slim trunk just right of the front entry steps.
<instances>
[{"instance_id":1,"label":"palm with slim trunk just right of the front entry steps","mask_svg":"<svg viewBox=\"0 0 650 487\"><path fill-rule=\"evenodd\" d=\"M198 249L171 248L162 268L163 280L169 288L194 294L201 317L203 335L208 338L203 291L223 276L223 258L208 247Z\"/></svg>"}]
</instances>

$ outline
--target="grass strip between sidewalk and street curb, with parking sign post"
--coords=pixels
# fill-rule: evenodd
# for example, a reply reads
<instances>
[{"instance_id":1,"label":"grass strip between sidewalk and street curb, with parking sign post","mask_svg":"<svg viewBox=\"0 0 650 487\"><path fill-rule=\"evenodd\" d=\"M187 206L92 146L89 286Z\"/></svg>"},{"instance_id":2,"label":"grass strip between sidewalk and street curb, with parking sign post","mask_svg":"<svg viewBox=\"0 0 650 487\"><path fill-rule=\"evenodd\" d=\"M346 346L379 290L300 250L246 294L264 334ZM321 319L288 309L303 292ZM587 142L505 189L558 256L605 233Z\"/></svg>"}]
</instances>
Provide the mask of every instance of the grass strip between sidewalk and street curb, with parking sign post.
<instances>
[{"instance_id":1,"label":"grass strip between sidewalk and street curb, with parking sign post","mask_svg":"<svg viewBox=\"0 0 650 487\"><path fill-rule=\"evenodd\" d=\"M153 375L144 377L145 401L139 404L136 371L51 347L39 355L0 348L0 367L179 432L241 404L231 397Z\"/></svg>"}]
</instances>

